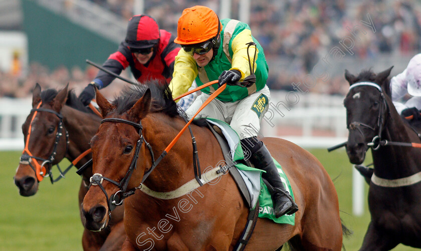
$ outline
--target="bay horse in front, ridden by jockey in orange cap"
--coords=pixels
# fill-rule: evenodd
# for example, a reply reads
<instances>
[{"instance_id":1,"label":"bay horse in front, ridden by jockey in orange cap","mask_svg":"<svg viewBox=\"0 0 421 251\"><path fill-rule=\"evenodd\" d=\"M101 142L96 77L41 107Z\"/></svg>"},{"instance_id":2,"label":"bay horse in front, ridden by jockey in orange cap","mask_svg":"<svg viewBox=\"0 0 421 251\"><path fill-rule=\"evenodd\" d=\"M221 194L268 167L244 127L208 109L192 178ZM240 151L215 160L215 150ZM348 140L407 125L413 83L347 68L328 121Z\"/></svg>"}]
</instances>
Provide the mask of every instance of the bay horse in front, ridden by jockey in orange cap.
<instances>
[{"instance_id":1,"label":"bay horse in front, ridden by jockey in orange cap","mask_svg":"<svg viewBox=\"0 0 421 251\"><path fill-rule=\"evenodd\" d=\"M85 227L92 230L108 224L109 205L114 207L141 185L154 156L160 156L185 125L168 88L138 87L112 104L99 92L96 95L105 119L91 140L96 173L92 184L96 185L91 186L82 206ZM215 167L224 160L207 127L192 125L191 129L201 166ZM340 250L338 197L326 170L313 155L289 141L263 141L289 177L300 210L295 225L259 218L246 249L275 250L289 241L297 250ZM191 137L184 133L143 185L169 192L190 180L196 182L192 150ZM125 199L124 209L124 250L229 250L240 238L249 212L231 175L173 199L136 190Z\"/></svg>"}]
</instances>

